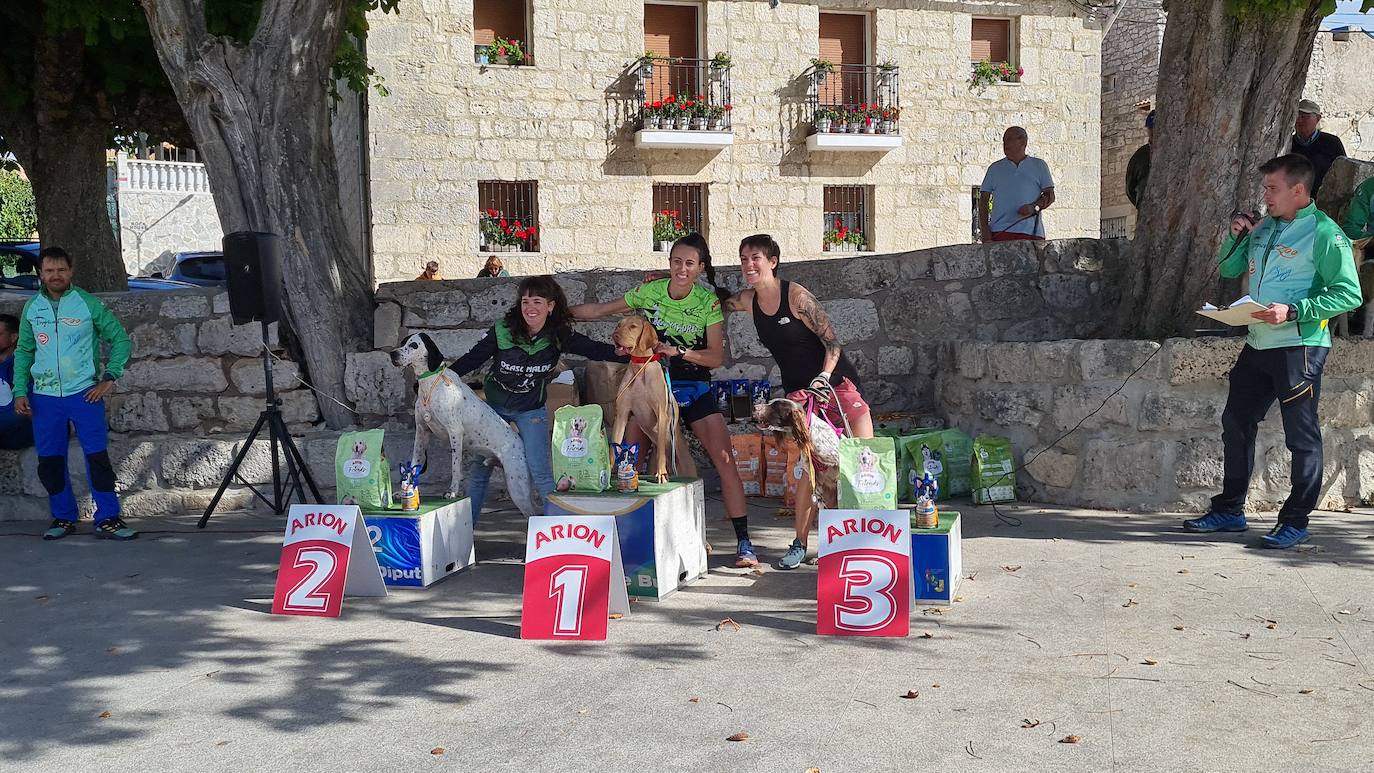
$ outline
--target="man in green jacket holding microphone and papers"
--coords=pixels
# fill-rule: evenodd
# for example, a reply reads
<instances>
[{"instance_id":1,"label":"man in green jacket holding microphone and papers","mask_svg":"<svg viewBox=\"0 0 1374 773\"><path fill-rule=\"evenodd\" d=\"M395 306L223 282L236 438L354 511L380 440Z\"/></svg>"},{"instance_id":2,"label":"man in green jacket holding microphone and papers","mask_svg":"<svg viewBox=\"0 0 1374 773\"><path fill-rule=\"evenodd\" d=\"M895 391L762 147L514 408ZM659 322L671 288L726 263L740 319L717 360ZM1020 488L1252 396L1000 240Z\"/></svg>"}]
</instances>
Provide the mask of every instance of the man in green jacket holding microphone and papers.
<instances>
[{"instance_id":1,"label":"man in green jacket holding microphone and papers","mask_svg":"<svg viewBox=\"0 0 1374 773\"><path fill-rule=\"evenodd\" d=\"M1360 305L1351 242L1318 211L1308 191L1312 162L1281 155L1260 166L1268 217L1231 221L1221 243L1221 276L1249 273L1254 312L1245 349L1231 369L1231 390L1221 413L1224 445L1221 493L1202 518L1184 520L1187 531L1245 531L1245 494L1254 470L1254 435L1275 401L1283 438L1293 453L1293 489L1278 524L1260 544L1292 548L1308 540L1308 515L1322 487L1322 428L1316 401L1322 367L1331 347L1327 320Z\"/></svg>"}]
</instances>

